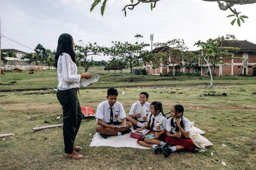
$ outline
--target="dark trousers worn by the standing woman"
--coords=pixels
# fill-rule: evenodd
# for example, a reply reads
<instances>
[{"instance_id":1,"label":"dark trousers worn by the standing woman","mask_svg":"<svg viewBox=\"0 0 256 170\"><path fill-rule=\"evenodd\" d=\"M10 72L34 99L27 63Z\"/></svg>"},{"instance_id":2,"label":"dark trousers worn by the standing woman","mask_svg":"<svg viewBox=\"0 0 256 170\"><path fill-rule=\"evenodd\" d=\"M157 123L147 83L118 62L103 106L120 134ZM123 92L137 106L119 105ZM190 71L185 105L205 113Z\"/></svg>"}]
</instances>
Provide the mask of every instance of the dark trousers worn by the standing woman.
<instances>
[{"instance_id":1,"label":"dark trousers worn by the standing woman","mask_svg":"<svg viewBox=\"0 0 256 170\"><path fill-rule=\"evenodd\" d=\"M75 136L82 121L82 111L77 97L78 88L58 90L57 98L63 111L63 138L65 152L73 151Z\"/></svg>"}]
</instances>

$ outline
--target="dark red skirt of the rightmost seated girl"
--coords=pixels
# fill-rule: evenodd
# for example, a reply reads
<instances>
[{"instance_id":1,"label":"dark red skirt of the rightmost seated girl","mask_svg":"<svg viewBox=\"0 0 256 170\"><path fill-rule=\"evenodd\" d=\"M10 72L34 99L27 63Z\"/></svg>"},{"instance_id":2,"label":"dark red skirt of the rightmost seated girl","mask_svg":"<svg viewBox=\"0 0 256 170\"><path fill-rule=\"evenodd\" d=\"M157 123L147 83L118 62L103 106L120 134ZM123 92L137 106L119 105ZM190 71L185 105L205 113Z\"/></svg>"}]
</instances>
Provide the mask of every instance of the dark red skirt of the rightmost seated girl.
<instances>
[{"instance_id":1,"label":"dark red skirt of the rightmost seated girl","mask_svg":"<svg viewBox=\"0 0 256 170\"><path fill-rule=\"evenodd\" d=\"M167 136L165 138L166 143L172 144L172 145L179 145L182 147L185 147L189 149L190 151L193 151L194 148L194 142L190 138L174 138Z\"/></svg>"}]
</instances>

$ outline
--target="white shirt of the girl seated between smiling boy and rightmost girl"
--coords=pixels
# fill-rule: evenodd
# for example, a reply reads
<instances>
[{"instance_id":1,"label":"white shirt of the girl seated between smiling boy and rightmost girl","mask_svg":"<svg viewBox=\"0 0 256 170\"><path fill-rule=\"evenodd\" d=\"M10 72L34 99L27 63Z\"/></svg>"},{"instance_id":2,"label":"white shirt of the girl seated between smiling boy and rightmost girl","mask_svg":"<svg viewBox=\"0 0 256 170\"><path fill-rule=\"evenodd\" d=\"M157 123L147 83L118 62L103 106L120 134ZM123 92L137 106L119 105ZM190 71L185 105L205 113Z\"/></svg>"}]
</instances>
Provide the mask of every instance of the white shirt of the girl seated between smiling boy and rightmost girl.
<instances>
[{"instance_id":1,"label":"white shirt of the girl seated between smiling boy and rightmost girl","mask_svg":"<svg viewBox=\"0 0 256 170\"><path fill-rule=\"evenodd\" d=\"M155 118L153 131L162 131L166 129L167 118L164 117L162 113L159 113L156 117L155 115L152 115L151 117L150 116L151 116L151 113L147 115L147 122L151 119L149 127L151 127L153 118Z\"/></svg>"}]
</instances>

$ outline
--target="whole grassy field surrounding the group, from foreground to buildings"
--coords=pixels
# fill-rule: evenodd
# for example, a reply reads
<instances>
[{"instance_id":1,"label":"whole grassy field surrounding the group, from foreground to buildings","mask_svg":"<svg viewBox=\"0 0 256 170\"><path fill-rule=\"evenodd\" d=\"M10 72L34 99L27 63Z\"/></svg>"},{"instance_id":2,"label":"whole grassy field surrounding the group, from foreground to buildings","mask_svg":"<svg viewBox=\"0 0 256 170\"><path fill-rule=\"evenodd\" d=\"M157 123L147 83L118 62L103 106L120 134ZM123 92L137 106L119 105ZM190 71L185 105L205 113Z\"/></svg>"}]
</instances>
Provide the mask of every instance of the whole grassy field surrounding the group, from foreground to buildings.
<instances>
[{"instance_id":1,"label":"whole grassy field surrounding the group, from foreground to buildings","mask_svg":"<svg viewBox=\"0 0 256 170\"><path fill-rule=\"evenodd\" d=\"M183 105L184 116L195 121L195 126L205 132L203 136L213 146L206 152L178 151L168 158L162 154L155 155L152 150L89 147L97 125L95 119L89 119L82 122L75 141L75 145L83 147L79 153L85 158L68 159L62 149L62 128L50 129L47 133L31 129L62 121L61 106L54 91L1 92L0 134L14 133L15 136L0 138L0 169L255 169L255 77L215 77L213 85L216 83L218 86L208 88L204 83L210 82L209 77L190 80L177 77L173 81L169 77L164 77L169 80L161 80L154 75L135 75L138 81L130 83L124 81L129 78L126 73L114 77L97 69L88 72L99 74L100 80L80 90L82 106L92 106L96 111L97 105L106 100L107 88L116 87L120 93L118 101L128 114L131 105L138 101L140 92L147 91L150 95L148 102L162 102L165 113L174 104ZM7 80L15 80L11 76L18 76L18 73L6 73L5 77L2 76L1 90L47 86L52 89L57 86L56 70L38 71L34 76L25 74L28 73L19 75L17 83L3 85ZM122 91L125 95L121 95ZM219 96L223 93L227 96ZM61 118L56 119L58 116Z\"/></svg>"}]
</instances>

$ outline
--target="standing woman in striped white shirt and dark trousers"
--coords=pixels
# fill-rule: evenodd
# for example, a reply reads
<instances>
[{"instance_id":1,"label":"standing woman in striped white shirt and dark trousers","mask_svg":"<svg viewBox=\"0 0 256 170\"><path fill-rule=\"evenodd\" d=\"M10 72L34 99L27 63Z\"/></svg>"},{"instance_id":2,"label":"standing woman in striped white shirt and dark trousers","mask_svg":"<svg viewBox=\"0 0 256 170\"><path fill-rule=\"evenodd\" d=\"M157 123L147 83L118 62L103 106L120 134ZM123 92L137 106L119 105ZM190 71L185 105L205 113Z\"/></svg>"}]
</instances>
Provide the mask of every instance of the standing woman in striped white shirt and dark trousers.
<instances>
[{"instance_id":1,"label":"standing woman in striped white shirt and dark trousers","mask_svg":"<svg viewBox=\"0 0 256 170\"><path fill-rule=\"evenodd\" d=\"M77 97L80 79L91 78L89 73L77 74L75 62L75 43L71 35L61 34L55 55L55 66L58 72L57 98L63 111L63 137L66 156L81 159L84 156L76 151L81 147L74 145L75 136L82 121L82 112Z\"/></svg>"}]
</instances>

